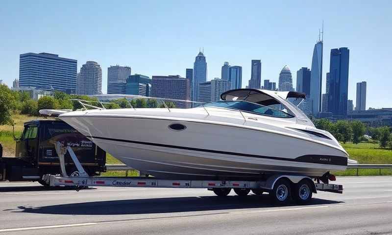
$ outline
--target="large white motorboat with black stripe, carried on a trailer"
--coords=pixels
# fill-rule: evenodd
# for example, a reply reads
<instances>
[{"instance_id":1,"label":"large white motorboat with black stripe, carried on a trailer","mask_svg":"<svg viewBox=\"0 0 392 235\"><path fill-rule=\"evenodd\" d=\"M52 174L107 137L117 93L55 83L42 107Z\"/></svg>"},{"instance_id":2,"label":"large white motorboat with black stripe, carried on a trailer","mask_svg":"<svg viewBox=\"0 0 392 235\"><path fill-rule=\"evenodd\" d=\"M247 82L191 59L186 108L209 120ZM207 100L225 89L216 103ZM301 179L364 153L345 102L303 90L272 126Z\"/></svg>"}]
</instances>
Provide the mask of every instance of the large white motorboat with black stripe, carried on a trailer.
<instances>
[{"instance_id":1,"label":"large white motorboat with black stripe, carried on a trailer","mask_svg":"<svg viewBox=\"0 0 392 235\"><path fill-rule=\"evenodd\" d=\"M303 99L296 92L235 89L187 109L97 108L58 118L124 164L159 178L317 178L344 170L347 152L294 104Z\"/></svg>"}]
</instances>

